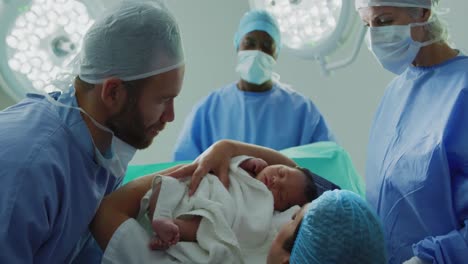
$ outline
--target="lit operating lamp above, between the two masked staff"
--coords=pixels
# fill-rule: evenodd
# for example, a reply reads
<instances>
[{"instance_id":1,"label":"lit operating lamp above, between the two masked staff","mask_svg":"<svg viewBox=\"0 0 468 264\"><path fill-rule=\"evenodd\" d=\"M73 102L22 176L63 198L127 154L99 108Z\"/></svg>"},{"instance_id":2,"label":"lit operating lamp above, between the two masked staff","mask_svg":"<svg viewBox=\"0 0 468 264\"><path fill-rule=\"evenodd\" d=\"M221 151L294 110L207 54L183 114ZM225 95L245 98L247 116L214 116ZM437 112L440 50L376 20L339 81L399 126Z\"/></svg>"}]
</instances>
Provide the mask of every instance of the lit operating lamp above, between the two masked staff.
<instances>
[{"instance_id":1,"label":"lit operating lamp above, between the two masked staff","mask_svg":"<svg viewBox=\"0 0 468 264\"><path fill-rule=\"evenodd\" d=\"M283 45L292 53L317 60L325 74L352 63L361 47L366 29L357 26L352 0L249 0L251 8L265 9L278 21ZM358 34L353 34L358 31ZM329 63L327 57L351 36L356 43L351 55Z\"/></svg>"}]
</instances>

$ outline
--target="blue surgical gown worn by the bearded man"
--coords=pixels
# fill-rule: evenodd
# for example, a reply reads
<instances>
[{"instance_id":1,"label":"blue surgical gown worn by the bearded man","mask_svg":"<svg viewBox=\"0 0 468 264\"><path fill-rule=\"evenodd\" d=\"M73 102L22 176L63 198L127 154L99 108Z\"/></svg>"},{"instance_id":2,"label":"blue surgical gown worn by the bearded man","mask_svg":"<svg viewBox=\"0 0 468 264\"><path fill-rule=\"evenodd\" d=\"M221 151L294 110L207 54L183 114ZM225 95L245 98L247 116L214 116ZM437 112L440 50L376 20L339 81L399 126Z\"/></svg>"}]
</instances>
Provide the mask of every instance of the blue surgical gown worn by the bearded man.
<instances>
[{"instance_id":1,"label":"blue surgical gown worn by the bearded man","mask_svg":"<svg viewBox=\"0 0 468 264\"><path fill-rule=\"evenodd\" d=\"M99 263L88 224L121 179L93 160L80 113L28 95L0 112L0 146L0 263Z\"/></svg>"}]
</instances>

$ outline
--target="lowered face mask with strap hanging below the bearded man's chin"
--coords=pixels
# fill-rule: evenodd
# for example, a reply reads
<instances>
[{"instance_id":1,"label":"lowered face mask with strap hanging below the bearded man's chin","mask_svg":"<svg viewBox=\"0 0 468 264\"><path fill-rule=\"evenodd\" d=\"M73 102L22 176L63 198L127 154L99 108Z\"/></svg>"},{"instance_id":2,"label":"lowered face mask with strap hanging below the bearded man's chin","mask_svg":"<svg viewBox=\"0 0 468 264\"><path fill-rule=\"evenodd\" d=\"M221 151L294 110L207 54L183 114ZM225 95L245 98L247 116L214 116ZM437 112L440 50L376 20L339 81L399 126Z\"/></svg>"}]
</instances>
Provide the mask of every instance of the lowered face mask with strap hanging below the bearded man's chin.
<instances>
[{"instance_id":1,"label":"lowered face mask with strap hanging below the bearded man's chin","mask_svg":"<svg viewBox=\"0 0 468 264\"><path fill-rule=\"evenodd\" d=\"M112 142L111 142L110 150L109 150L110 157L108 158L102 155L101 151L99 151L99 149L96 147L96 144L94 144L93 142L96 162L99 165L101 165L103 168L108 170L116 178L123 177L127 170L128 163L130 162L130 160L132 160L133 156L136 153L136 148L134 148L133 146L130 146L126 142L116 137L112 130L99 124L96 120L94 120L94 118L91 117L91 115L86 113L86 111L84 111L82 108L62 104L58 102L57 100L54 100L48 94L45 94L45 97L50 103L56 106L75 109L75 110L80 111L81 113L86 115L91 120L91 122L94 123L96 127L112 135Z\"/></svg>"}]
</instances>

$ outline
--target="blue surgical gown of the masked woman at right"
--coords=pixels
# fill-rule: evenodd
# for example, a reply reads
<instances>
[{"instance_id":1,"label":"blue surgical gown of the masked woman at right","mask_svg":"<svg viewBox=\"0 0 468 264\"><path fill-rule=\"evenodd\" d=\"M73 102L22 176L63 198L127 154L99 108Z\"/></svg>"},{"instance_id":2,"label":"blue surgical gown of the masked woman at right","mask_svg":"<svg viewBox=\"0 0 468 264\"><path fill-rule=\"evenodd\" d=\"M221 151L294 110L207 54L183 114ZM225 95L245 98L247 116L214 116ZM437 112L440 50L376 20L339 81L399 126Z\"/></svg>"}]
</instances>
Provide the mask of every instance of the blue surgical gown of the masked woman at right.
<instances>
[{"instance_id":1,"label":"blue surgical gown of the masked woman at right","mask_svg":"<svg viewBox=\"0 0 468 264\"><path fill-rule=\"evenodd\" d=\"M368 155L367 199L383 222L389 262L468 263L468 57L395 78Z\"/></svg>"}]
</instances>

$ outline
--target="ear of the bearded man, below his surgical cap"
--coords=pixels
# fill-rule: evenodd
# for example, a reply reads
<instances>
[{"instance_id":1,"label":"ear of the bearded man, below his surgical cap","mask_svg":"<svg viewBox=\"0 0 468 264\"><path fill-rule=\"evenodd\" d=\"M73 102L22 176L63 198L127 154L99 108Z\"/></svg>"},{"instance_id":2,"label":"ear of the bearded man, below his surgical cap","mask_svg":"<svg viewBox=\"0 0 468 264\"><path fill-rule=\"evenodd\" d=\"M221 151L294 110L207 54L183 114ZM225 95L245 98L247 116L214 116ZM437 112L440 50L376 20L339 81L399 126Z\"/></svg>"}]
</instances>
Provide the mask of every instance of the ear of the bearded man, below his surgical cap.
<instances>
[{"instance_id":1,"label":"ear of the bearded man, below his surgical cap","mask_svg":"<svg viewBox=\"0 0 468 264\"><path fill-rule=\"evenodd\" d=\"M118 78L104 80L101 89L101 100L110 112L118 112L127 98L123 81Z\"/></svg>"}]
</instances>

